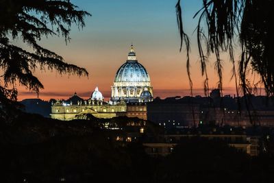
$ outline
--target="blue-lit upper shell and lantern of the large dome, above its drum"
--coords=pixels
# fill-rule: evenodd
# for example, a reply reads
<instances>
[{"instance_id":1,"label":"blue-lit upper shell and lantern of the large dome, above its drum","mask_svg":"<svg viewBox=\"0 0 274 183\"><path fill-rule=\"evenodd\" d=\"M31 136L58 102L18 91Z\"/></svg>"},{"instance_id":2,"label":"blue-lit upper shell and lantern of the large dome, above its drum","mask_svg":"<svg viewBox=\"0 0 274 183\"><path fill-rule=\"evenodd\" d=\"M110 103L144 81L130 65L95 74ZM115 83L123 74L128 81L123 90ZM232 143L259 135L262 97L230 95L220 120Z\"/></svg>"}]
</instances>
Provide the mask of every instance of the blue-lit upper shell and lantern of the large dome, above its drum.
<instances>
[{"instance_id":1,"label":"blue-lit upper shell and lantern of the large dome, above its drum","mask_svg":"<svg viewBox=\"0 0 274 183\"><path fill-rule=\"evenodd\" d=\"M127 62L116 72L114 82L150 82L147 70L136 60L133 47L127 56Z\"/></svg>"}]
</instances>

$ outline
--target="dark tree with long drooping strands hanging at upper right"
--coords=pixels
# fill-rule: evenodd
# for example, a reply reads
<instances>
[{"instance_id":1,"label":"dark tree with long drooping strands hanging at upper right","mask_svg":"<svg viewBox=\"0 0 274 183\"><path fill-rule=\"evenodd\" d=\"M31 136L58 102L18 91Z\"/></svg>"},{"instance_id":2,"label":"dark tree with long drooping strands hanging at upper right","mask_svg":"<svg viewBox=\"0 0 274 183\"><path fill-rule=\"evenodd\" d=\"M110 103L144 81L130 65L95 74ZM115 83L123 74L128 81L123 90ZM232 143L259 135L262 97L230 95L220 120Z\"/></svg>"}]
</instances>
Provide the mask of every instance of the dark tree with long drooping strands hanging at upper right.
<instances>
[{"instance_id":1,"label":"dark tree with long drooping strands hanging at upper right","mask_svg":"<svg viewBox=\"0 0 274 183\"><path fill-rule=\"evenodd\" d=\"M207 65L211 54L214 55L215 69L219 76L219 88L223 88L223 60L220 57L222 52L229 53L237 93L240 91L243 95L248 95L256 92L254 89L262 85L266 95L274 95L274 35L271 29L274 25L274 1L203 0L201 3L202 7L194 18L198 19L197 43L201 74L206 78L206 95L209 89ZM184 7L182 9L184 10ZM179 33L188 52L189 41L183 29L182 9L178 0L176 10ZM235 59L235 49L240 49L239 60ZM189 58L187 60L190 77ZM257 75L260 81L253 82L250 75Z\"/></svg>"}]
</instances>

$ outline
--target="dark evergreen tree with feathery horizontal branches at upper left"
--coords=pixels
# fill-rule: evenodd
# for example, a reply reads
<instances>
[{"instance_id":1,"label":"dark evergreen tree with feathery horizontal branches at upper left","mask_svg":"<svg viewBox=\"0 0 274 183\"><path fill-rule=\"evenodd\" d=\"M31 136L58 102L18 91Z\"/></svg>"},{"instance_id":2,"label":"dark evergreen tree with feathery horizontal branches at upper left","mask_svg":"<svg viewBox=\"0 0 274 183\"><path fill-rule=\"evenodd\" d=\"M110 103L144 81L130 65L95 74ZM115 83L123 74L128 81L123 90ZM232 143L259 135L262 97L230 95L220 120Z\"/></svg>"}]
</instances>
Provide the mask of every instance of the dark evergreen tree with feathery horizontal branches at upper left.
<instances>
[{"instance_id":1,"label":"dark evergreen tree with feathery horizontal branches at upper left","mask_svg":"<svg viewBox=\"0 0 274 183\"><path fill-rule=\"evenodd\" d=\"M0 118L8 117L16 103L16 82L36 93L43 88L34 69L88 75L86 69L64 62L62 56L38 44L42 36L63 36L67 42L71 25L84 27L85 16L90 14L77 10L70 0L0 0ZM17 38L33 51L13 45L11 40Z\"/></svg>"}]
</instances>

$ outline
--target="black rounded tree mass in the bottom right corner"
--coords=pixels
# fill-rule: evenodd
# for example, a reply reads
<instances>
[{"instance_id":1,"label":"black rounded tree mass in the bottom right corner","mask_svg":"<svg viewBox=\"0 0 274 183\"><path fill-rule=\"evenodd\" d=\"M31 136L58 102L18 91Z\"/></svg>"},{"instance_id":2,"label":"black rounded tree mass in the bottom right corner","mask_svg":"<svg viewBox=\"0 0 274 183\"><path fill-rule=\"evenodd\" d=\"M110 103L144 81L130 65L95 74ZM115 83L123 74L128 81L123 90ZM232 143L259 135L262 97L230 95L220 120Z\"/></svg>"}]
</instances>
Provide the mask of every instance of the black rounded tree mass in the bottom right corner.
<instances>
[{"instance_id":1,"label":"black rounded tree mass in the bottom right corner","mask_svg":"<svg viewBox=\"0 0 274 183\"><path fill-rule=\"evenodd\" d=\"M154 182L268 182L272 166L269 156L252 158L222 141L185 138L159 164Z\"/></svg>"}]
</instances>

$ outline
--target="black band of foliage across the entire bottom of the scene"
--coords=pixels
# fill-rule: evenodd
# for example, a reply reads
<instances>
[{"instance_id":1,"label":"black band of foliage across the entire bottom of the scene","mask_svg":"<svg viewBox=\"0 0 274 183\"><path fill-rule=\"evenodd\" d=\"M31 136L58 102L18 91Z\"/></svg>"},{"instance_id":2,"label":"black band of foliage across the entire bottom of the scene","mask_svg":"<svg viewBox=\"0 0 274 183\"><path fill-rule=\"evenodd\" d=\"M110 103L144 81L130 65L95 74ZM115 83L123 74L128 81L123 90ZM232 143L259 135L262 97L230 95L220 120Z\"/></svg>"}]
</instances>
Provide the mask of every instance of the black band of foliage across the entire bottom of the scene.
<instances>
[{"instance_id":1,"label":"black band of foliage across the entire bottom of the scene","mask_svg":"<svg viewBox=\"0 0 274 183\"><path fill-rule=\"evenodd\" d=\"M251 157L198 137L149 156L141 141L117 142L98 121L19 114L0 136L1 182L268 182L274 173L271 154Z\"/></svg>"}]
</instances>

